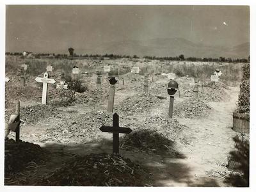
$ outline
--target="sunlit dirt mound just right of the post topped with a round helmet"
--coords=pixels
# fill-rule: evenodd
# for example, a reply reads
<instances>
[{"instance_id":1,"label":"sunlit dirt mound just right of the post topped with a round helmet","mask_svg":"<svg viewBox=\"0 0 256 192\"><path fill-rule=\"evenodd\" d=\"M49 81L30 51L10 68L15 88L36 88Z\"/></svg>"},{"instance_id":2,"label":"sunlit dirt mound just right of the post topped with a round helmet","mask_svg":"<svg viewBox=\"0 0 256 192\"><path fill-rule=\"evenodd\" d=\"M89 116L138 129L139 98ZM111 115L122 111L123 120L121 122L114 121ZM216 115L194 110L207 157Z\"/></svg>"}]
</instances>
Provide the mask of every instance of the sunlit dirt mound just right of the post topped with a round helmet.
<instances>
[{"instance_id":1,"label":"sunlit dirt mound just right of the post topped with a round helmet","mask_svg":"<svg viewBox=\"0 0 256 192\"><path fill-rule=\"evenodd\" d=\"M174 107L173 116L198 118L209 115L211 107L200 99L186 99Z\"/></svg>"}]
</instances>

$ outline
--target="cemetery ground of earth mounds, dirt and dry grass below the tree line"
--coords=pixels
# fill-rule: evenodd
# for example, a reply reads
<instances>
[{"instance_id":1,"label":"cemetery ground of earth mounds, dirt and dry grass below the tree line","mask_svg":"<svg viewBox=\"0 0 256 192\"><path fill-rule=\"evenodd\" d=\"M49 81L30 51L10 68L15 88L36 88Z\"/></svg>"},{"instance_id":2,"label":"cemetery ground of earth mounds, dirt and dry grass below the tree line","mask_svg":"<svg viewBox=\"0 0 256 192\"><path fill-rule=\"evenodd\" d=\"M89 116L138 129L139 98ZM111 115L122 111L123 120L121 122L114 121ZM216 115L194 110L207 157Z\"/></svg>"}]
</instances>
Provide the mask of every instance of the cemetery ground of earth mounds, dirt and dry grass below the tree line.
<instances>
[{"instance_id":1,"label":"cemetery ground of earth mounds, dirt and dry grass below the tree line","mask_svg":"<svg viewBox=\"0 0 256 192\"><path fill-rule=\"evenodd\" d=\"M22 64L28 65L25 75ZM47 83L47 104L42 104L49 65L48 79L56 83ZM79 68L77 74L72 73L74 66ZM113 112L110 72L104 72L104 66L118 70ZM131 72L132 67L140 72ZM6 56L10 81L5 83L5 122L19 100L21 141L15 142L13 131L5 141L4 184L230 186L225 177L232 172L228 167L232 138L240 135L232 129L232 113L242 67L242 63ZM214 83L216 68L222 75ZM172 118L170 73L179 84ZM60 84L63 77L67 90ZM119 155L112 154L114 134L100 131L116 124L113 113L119 116L119 127L132 130L119 134Z\"/></svg>"}]
</instances>

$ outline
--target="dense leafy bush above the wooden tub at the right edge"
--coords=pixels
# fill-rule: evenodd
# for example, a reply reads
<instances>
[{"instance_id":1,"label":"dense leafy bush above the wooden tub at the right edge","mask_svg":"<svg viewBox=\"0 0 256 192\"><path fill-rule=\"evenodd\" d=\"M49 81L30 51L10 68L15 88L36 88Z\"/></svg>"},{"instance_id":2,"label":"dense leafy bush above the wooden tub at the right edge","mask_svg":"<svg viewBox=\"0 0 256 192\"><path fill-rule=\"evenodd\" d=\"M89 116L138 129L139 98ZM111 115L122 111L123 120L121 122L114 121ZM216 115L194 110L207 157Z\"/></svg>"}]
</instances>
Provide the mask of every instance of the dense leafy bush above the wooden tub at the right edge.
<instances>
[{"instance_id":1,"label":"dense leafy bush above the wooden tub at the right edge","mask_svg":"<svg viewBox=\"0 0 256 192\"><path fill-rule=\"evenodd\" d=\"M243 77L240 84L240 93L237 102L238 113L250 112L250 65L246 64L243 67Z\"/></svg>"}]
</instances>

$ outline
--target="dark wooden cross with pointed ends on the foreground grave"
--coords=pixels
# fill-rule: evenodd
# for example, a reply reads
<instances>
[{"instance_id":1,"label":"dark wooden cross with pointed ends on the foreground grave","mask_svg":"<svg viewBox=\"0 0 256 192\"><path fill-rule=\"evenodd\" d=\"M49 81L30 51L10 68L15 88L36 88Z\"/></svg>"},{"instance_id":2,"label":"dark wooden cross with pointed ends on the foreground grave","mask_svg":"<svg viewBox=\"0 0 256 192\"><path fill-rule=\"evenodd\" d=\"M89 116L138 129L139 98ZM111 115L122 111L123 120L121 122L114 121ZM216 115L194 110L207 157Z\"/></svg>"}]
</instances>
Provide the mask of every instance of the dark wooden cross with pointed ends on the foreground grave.
<instances>
[{"instance_id":1,"label":"dark wooden cross with pointed ends on the foreground grave","mask_svg":"<svg viewBox=\"0 0 256 192\"><path fill-rule=\"evenodd\" d=\"M102 132L113 132L113 154L119 154L119 133L129 134L132 130L128 127L119 127L119 116L117 113L113 115L113 126L100 127Z\"/></svg>"}]
</instances>

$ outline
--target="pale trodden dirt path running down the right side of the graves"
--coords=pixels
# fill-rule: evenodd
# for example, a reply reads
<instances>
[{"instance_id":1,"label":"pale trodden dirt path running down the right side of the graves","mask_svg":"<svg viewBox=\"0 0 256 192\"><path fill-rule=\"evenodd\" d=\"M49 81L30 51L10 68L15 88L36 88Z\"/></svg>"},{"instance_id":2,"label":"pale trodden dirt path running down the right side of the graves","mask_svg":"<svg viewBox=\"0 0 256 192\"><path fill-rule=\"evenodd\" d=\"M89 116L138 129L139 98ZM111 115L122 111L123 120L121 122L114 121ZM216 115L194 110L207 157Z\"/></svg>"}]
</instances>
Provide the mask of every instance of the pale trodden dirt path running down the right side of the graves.
<instances>
[{"instance_id":1,"label":"pale trodden dirt path running down the right side of the graves","mask_svg":"<svg viewBox=\"0 0 256 192\"><path fill-rule=\"evenodd\" d=\"M225 164L228 152L234 148L232 137L237 134L231 127L238 88L232 88L228 93L231 96L228 102L209 103L214 111L207 118L177 118L180 124L189 127L184 134L192 142L177 147L184 159L151 156L156 186L227 186L223 183L223 175L228 172ZM180 100L177 98L175 102ZM165 100L163 106L152 109L152 114L167 113L168 102Z\"/></svg>"}]
</instances>

